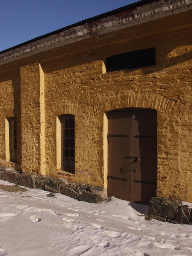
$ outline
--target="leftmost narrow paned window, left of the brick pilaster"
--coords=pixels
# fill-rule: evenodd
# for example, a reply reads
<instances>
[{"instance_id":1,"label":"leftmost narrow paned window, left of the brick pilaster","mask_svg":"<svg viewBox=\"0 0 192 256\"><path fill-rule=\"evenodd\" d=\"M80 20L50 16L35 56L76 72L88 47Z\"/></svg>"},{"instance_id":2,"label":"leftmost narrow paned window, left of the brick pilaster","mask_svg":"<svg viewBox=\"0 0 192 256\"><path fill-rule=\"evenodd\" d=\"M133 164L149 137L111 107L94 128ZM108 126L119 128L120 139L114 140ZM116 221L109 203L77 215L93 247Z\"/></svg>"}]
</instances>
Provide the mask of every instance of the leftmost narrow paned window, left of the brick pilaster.
<instances>
[{"instance_id":1,"label":"leftmost narrow paned window, left of the brick pilaster","mask_svg":"<svg viewBox=\"0 0 192 256\"><path fill-rule=\"evenodd\" d=\"M17 162L17 120L9 118L9 153L10 161Z\"/></svg>"}]
</instances>

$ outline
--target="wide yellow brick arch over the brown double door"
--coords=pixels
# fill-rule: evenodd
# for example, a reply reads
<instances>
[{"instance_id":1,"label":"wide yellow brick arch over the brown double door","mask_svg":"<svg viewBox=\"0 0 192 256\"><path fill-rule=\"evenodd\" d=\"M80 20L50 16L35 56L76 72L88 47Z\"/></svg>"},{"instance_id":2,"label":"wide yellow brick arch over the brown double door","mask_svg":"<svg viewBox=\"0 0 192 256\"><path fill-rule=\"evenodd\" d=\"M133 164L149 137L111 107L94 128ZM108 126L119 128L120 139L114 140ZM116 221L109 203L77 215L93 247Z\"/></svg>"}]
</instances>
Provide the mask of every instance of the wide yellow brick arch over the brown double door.
<instances>
[{"instance_id":1,"label":"wide yellow brick arch over the brown double door","mask_svg":"<svg viewBox=\"0 0 192 256\"><path fill-rule=\"evenodd\" d=\"M88 119L119 108L153 108L179 118L185 111L184 106L178 100L167 99L161 95L147 93L119 93L113 97L103 95L101 101L84 110Z\"/></svg>"}]
</instances>

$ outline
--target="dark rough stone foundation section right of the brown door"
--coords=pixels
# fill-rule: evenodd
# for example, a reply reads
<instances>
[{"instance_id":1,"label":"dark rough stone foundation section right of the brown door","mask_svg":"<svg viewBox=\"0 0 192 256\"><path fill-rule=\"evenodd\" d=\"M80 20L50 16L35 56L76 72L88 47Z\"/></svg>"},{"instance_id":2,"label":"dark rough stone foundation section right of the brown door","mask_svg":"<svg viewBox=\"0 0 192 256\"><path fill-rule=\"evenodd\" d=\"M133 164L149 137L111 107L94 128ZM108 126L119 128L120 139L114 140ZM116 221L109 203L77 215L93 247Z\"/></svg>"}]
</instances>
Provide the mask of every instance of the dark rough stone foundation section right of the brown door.
<instances>
[{"instance_id":1,"label":"dark rough stone foundation section right of the brown door","mask_svg":"<svg viewBox=\"0 0 192 256\"><path fill-rule=\"evenodd\" d=\"M153 197L149 200L146 220L161 220L176 224L192 224L192 207L174 198Z\"/></svg>"}]
</instances>

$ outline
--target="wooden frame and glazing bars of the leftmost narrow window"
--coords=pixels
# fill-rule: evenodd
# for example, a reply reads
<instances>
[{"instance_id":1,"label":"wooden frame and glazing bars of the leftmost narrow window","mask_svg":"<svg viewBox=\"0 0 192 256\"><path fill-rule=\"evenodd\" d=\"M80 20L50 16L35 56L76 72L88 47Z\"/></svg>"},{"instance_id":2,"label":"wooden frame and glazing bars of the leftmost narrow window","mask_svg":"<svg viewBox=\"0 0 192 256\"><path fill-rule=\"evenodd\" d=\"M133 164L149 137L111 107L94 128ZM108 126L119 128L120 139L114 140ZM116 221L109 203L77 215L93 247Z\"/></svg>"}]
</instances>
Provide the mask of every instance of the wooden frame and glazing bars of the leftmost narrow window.
<instances>
[{"instance_id":1,"label":"wooden frame and glazing bars of the leftmost narrow window","mask_svg":"<svg viewBox=\"0 0 192 256\"><path fill-rule=\"evenodd\" d=\"M16 127L14 126L14 123L12 127L12 121L16 122ZM12 129L13 129L13 134L12 134ZM15 134L14 134L14 129L16 130ZM13 137L13 142L12 142L12 137ZM16 142L15 142L15 139L16 139ZM12 145L14 150L12 150ZM14 152L14 156L16 156L16 158L12 158L12 152ZM17 163L17 118L16 117L9 118L9 156L10 156L9 157L10 162Z\"/></svg>"}]
</instances>

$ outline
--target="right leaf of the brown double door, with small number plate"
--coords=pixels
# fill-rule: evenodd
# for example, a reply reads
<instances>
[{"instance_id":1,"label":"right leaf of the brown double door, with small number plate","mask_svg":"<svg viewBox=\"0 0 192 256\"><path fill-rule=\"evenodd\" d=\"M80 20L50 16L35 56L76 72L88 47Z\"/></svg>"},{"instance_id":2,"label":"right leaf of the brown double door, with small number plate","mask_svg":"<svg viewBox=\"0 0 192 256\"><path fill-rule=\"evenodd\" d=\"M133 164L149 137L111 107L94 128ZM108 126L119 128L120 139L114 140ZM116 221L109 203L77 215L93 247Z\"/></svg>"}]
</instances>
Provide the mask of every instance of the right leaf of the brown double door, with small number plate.
<instances>
[{"instance_id":1,"label":"right leaf of the brown double door, with small number plate","mask_svg":"<svg viewBox=\"0 0 192 256\"><path fill-rule=\"evenodd\" d=\"M139 158L131 172L131 201L148 203L156 196L156 111L132 111L131 154Z\"/></svg>"}]
</instances>

